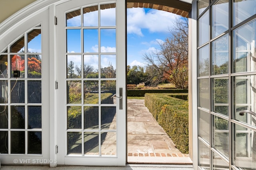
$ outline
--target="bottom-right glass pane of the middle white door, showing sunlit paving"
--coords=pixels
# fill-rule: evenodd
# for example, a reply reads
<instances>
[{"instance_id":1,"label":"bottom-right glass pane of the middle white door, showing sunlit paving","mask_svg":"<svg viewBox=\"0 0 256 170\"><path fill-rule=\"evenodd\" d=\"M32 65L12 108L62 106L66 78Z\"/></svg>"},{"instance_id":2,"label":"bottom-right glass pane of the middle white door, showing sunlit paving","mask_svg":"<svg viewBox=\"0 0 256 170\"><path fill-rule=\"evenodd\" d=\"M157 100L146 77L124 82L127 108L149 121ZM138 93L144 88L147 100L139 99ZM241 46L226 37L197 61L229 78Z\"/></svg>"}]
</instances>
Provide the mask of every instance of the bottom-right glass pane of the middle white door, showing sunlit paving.
<instances>
[{"instance_id":1,"label":"bottom-right glass pane of the middle white door, showing sunlit paving","mask_svg":"<svg viewBox=\"0 0 256 170\"><path fill-rule=\"evenodd\" d=\"M116 132L101 133L101 155L116 155Z\"/></svg>"}]
</instances>

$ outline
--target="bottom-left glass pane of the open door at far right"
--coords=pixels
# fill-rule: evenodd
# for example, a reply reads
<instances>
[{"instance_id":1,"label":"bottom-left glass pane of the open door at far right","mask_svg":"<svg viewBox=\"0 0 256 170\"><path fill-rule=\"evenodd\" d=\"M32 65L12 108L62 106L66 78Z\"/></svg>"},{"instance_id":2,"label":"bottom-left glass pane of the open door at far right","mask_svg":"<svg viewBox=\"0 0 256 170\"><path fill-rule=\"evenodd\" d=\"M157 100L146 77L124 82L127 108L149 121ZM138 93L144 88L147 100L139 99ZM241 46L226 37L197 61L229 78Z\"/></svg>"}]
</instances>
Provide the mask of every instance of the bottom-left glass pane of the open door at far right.
<instances>
[{"instance_id":1,"label":"bottom-left glass pane of the open door at far right","mask_svg":"<svg viewBox=\"0 0 256 170\"><path fill-rule=\"evenodd\" d=\"M210 148L199 141L199 166L203 169L210 169Z\"/></svg>"}]
</instances>

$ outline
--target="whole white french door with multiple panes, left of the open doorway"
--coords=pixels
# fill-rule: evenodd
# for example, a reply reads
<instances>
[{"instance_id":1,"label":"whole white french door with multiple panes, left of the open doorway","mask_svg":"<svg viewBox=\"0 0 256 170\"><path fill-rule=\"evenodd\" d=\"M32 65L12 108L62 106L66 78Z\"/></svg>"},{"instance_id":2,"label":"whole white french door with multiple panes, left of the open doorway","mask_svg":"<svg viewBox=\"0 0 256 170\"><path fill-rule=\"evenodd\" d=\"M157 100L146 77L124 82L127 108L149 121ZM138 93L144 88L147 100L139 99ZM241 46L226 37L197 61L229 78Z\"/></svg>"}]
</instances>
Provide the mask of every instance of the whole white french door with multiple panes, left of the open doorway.
<instances>
[{"instance_id":1,"label":"whole white french door with multiple panes, left of the open doorway","mask_svg":"<svg viewBox=\"0 0 256 170\"><path fill-rule=\"evenodd\" d=\"M56 6L57 164L126 164L125 0Z\"/></svg>"}]
</instances>

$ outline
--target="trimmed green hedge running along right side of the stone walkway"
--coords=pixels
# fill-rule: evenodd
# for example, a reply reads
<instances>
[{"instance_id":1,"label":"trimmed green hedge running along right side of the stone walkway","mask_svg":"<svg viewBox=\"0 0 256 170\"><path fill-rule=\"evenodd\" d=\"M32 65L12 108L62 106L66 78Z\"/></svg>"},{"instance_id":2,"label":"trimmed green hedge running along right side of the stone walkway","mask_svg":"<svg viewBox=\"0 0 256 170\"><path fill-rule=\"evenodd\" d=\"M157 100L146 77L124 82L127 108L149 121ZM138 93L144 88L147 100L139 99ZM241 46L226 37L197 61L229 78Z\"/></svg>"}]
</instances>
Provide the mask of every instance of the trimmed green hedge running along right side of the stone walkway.
<instances>
[{"instance_id":1,"label":"trimmed green hedge running along right side of the stone walkway","mask_svg":"<svg viewBox=\"0 0 256 170\"><path fill-rule=\"evenodd\" d=\"M188 101L171 95L145 94L145 105L180 152L188 154ZM181 96L184 98L186 94Z\"/></svg>"}]
</instances>

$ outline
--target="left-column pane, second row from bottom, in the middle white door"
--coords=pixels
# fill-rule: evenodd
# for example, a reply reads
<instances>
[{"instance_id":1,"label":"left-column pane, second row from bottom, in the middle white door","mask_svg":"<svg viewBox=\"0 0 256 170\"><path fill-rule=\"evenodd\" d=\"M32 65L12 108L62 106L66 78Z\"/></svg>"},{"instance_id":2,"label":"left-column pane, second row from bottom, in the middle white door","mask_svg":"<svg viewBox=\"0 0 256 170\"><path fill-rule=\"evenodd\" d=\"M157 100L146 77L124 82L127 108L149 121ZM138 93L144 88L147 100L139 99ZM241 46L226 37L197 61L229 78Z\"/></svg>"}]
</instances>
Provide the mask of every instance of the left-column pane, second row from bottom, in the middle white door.
<instances>
[{"instance_id":1,"label":"left-column pane, second row from bottom, in the middle white door","mask_svg":"<svg viewBox=\"0 0 256 170\"><path fill-rule=\"evenodd\" d=\"M82 108L81 108L81 106L68 106L67 111L68 111L67 129L82 129Z\"/></svg>"}]
</instances>

